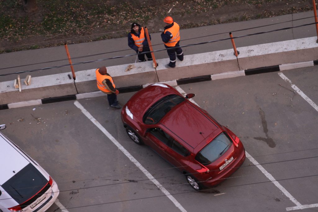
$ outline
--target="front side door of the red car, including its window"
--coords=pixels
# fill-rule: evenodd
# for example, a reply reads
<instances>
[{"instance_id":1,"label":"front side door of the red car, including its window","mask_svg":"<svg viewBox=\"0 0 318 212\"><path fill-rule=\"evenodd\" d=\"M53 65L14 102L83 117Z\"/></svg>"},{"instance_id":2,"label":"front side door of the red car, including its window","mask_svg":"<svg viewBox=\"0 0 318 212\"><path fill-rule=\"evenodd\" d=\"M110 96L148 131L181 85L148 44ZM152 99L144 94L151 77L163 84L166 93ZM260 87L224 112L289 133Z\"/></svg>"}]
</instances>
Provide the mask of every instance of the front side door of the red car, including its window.
<instances>
[{"instance_id":1,"label":"front side door of the red car, including its window","mask_svg":"<svg viewBox=\"0 0 318 212\"><path fill-rule=\"evenodd\" d=\"M159 127L154 127L147 129L146 137L149 141L147 142L149 147L166 159L166 149L168 147L169 139L171 138L169 134L165 133Z\"/></svg>"}]
</instances>

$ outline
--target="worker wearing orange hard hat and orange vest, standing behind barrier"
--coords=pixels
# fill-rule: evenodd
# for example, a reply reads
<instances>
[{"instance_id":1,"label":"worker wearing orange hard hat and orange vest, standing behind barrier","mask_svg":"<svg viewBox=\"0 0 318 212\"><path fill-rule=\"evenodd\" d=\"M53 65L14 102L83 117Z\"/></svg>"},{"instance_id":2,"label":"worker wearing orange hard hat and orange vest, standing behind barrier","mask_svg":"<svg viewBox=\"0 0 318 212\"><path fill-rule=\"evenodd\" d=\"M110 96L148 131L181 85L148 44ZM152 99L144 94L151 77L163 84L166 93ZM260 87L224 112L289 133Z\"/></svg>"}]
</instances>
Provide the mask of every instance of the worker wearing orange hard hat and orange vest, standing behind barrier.
<instances>
[{"instance_id":1,"label":"worker wearing orange hard hat and orange vest, standing behind barrier","mask_svg":"<svg viewBox=\"0 0 318 212\"><path fill-rule=\"evenodd\" d=\"M166 24L164 31L161 33L161 39L167 49L170 62L166 64L166 68L176 67L176 56L180 61L183 61L183 51L179 45L180 42L180 27L179 24L173 21L172 17L167 16L163 19Z\"/></svg>"}]
</instances>

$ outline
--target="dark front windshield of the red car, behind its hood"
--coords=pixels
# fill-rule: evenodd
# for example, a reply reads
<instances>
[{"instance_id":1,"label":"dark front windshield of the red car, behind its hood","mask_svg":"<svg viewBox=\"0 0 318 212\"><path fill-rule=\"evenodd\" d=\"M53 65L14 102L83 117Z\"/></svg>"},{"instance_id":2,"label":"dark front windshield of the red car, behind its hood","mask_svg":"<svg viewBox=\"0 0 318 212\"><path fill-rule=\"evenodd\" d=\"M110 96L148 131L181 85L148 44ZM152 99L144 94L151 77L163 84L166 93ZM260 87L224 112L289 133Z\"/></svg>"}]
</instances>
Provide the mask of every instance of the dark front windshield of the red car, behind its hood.
<instances>
[{"instance_id":1,"label":"dark front windshield of the red car, behind its hood","mask_svg":"<svg viewBox=\"0 0 318 212\"><path fill-rule=\"evenodd\" d=\"M171 94L163 97L153 104L144 114L142 121L145 124L156 124L164 115L166 115L174 106L184 101L182 96Z\"/></svg>"}]
</instances>

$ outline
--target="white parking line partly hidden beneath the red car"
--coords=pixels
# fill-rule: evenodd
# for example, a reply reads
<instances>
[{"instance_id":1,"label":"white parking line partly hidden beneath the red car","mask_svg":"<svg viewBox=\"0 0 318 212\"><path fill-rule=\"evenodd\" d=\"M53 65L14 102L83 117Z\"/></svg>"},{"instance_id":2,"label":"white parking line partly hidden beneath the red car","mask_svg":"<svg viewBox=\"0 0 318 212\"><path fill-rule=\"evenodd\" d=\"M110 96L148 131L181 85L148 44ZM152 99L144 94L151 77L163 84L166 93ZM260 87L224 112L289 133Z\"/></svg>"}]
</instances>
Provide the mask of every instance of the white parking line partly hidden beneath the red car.
<instances>
[{"instance_id":1,"label":"white parking line partly hidden beneath the red car","mask_svg":"<svg viewBox=\"0 0 318 212\"><path fill-rule=\"evenodd\" d=\"M176 87L177 91L180 92L183 96L186 94L182 88L180 88L179 86ZM192 103L196 104L194 102L194 100L190 100ZM197 104L196 104L197 105ZM259 168L259 170L265 174L265 176L273 182L273 184L278 188L280 189L281 192L283 192L284 195L286 195L290 201L294 202L294 204L296 205L296 207L292 207L292 208L297 208L297 209L303 209L302 207L304 205L301 205L300 202L298 202L282 185L280 185L280 183L278 181L275 180L275 178L272 176L272 174L269 174L265 168L263 168L261 165L259 165L259 162L257 162L250 154L248 154L246 151L245 151L245 154L246 154L246 157L257 167ZM286 208L287 210L288 208ZM296 210L296 209L294 209Z\"/></svg>"}]
</instances>

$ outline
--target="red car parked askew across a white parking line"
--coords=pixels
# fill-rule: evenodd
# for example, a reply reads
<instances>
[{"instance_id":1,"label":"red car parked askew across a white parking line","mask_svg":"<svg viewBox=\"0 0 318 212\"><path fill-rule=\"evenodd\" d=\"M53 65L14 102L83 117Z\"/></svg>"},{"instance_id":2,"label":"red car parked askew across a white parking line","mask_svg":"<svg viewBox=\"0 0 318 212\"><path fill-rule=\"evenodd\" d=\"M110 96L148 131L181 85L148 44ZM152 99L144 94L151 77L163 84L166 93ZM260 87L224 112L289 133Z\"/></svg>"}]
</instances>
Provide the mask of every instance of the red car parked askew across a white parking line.
<instances>
[{"instance_id":1,"label":"red car parked askew across a white parking line","mask_svg":"<svg viewBox=\"0 0 318 212\"><path fill-rule=\"evenodd\" d=\"M146 144L178 168L192 188L224 181L245 161L240 139L173 87L151 84L121 111L129 137Z\"/></svg>"}]
</instances>

